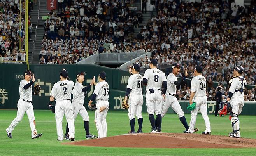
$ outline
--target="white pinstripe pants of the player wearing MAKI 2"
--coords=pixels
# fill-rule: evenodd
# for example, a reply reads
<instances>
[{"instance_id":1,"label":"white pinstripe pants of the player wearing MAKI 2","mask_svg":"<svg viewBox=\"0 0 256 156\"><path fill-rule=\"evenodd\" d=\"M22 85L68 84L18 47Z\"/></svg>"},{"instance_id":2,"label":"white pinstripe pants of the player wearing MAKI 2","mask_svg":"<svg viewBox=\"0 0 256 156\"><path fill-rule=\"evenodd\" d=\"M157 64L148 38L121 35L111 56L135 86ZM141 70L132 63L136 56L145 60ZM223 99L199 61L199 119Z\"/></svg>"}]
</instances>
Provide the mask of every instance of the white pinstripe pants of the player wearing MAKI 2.
<instances>
[{"instance_id":1,"label":"white pinstripe pants of the player wearing MAKI 2","mask_svg":"<svg viewBox=\"0 0 256 156\"><path fill-rule=\"evenodd\" d=\"M74 125L74 115L70 100L56 101L55 106L55 119L57 127L58 140L62 141L64 139L62 120L65 114L66 120L68 122L69 138L75 138L75 125Z\"/></svg>"}]
</instances>

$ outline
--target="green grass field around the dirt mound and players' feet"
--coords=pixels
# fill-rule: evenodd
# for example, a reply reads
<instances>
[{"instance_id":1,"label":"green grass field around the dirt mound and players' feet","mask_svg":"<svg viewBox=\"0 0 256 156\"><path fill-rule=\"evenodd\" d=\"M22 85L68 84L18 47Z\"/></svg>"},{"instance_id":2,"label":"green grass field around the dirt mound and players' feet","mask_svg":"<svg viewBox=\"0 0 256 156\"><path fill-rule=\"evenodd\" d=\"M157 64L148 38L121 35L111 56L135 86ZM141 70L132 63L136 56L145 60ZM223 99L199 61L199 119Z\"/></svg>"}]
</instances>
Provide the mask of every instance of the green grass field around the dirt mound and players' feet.
<instances>
[{"instance_id":1,"label":"green grass field around the dirt mound and players' feet","mask_svg":"<svg viewBox=\"0 0 256 156\"><path fill-rule=\"evenodd\" d=\"M36 128L38 133L42 133L39 139L31 139L31 131L28 123L28 118L25 114L23 120L17 125L12 132L13 138L9 139L5 129L9 126L12 120L16 117L17 110L0 110L0 155L255 155L256 148L244 149L146 149L146 148L114 148L114 147L84 147L63 145L58 142L56 134L56 121L54 114L48 110L35 110ZM96 126L93 122L94 112L89 111L90 117L90 132L97 134ZM142 114L144 123L142 130L147 133L151 130L149 119L146 113ZM187 122L190 121L190 114L186 114ZM209 115L212 127L212 135L227 135L232 131L228 116L224 118L214 117ZM255 116L239 116L240 131L242 137L256 139ZM254 119L254 120L253 120ZM109 111L107 114L107 136L120 135L128 133L130 129L129 119L126 112ZM63 130L65 133L66 120L63 119ZM205 130L205 124L202 116L199 114L196 127L199 132ZM135 123L135 130L137 121ZM163 118L163 132L182 133L183 125L179 121L176 114L167 114ZM78 116L75 121L75 139L84 140L85 132L81 116ZM136 141L136 140L134 140ZM161 142L152 142L152 144L161 144Z\"/></svg>"}]
</instances>

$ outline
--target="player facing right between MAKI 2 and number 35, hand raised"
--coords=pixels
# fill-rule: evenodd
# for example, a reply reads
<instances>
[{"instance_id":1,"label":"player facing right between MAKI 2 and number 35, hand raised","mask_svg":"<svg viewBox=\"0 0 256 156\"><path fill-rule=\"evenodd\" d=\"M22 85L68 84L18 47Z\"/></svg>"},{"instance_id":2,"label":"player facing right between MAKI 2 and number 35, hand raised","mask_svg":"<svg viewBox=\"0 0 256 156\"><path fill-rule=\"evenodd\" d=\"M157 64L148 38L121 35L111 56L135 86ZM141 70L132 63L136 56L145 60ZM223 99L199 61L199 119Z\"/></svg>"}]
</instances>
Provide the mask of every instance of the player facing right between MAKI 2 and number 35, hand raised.
<instances>
[{"instance_id":1,"label":"player facing right between MAKI 2 and number 35, hand raised","mask_svg":"<svg viewBox=\"0 0 256 156\"><path fill-rule=\"evenodd\" d=\"M84 81L84 75L86 73L78 73L76 75L76 78L77 78L77 83L75 83L75 86L73 88L73 91L72 91L72 94L73 94L73 99L72 99L72 108L73 108L73 114L74 114L74 120L75 118L77 117L78 113L82 116L82 119L84 120L84 130L86 132L86 139L93 139L95 138L96 136L95 135L91 135L90 132L89 132L89 115L84 107L84 97L85 95L87 94L87 90L89 88L91 88L91 86L93 85L93 82L94 82L94 77L93 77L93 80L91 81L91 83L86 86L86 87L83 87L82 83ZM68 132L69 132L69 129L68 129L68 123L67 123L67 126L66 126L66 134L64 136L64 139L67 139L69 140L69 136L68 136Z\"/></svg>"}]
</instances>

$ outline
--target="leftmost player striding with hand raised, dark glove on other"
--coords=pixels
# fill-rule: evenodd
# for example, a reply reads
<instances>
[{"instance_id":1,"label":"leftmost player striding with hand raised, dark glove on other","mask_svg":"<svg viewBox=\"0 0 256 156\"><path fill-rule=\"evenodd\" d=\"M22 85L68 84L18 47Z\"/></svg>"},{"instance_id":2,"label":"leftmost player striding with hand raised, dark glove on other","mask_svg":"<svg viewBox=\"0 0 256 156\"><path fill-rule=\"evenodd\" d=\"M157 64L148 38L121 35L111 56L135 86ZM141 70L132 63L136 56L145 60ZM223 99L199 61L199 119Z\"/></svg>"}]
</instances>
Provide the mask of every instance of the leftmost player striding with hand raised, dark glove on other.
<instances>
[{"instance_id":1,"label":"leftmost player striding with hand raised, dark glove on other","mask_svg":"<svg viewBox=\"0 0 256 156\"><path fill-rule=\"evenodd\" d=\"M32 79L32 81L30 81ZM12 138L12 131L18 125L18 123L22 120L25 112L28 116L29 125L31 129L31 137L32 139L36 139L42 136L42 134L37 133L35 129L35 115L32 101L32 95L35 95L32 92L32 84L35 82L35 76L31 71L26 70L24 72L24 79L19 83L19 101L17 104L17 116L12 121L11 125L6 129L7 136Z\"/></svg>"}]
</instances>

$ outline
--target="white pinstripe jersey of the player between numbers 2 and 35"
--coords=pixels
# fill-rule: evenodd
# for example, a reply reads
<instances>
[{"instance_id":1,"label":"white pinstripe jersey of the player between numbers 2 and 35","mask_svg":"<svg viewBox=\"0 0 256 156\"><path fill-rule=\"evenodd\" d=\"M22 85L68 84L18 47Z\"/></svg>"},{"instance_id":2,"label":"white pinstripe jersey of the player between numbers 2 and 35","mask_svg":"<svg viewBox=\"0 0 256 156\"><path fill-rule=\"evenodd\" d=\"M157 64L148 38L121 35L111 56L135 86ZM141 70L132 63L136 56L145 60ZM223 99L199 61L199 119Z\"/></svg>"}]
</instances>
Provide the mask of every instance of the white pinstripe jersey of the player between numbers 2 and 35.
<instances>
[{"instance_id":1,"label":"white pinstripe jersey of the player between numbers 2 and 35","mask_svg":"<svg viewBox=\"0 0 256 156\"><path fill-rule=\"evenodd\" d=\"M82 92L82 89L84 88L84 86L77 82L75 83L75 86L72 90L72 94L73 94L73 99L72 102L77 102L80 104L84 103L84 92Z\"/></svg>"}]
</instances>

